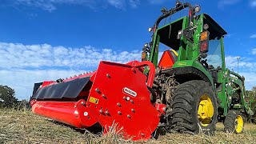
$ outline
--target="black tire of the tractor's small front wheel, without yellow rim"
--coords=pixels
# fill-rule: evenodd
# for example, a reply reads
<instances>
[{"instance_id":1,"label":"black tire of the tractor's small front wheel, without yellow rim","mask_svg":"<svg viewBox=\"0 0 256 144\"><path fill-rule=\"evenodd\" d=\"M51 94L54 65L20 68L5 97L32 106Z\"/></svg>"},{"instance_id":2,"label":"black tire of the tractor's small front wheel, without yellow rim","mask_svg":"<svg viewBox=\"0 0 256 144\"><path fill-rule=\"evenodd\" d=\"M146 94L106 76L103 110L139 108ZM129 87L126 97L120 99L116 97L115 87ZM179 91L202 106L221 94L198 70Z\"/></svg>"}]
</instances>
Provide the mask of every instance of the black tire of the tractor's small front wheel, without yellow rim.
<instances>
[{"instance_id":1,"label":"black tire of the tractor's small front wheel, without yellow rim","mask_svg":"<svg viewBox=\"0 0 256 144\"><path fill-rule=\"evenodd\" d=\"M238 117L242 118L242 130L237 130L236 126L238 126L238 123L236 121L236 119ZM243 132L244 129L244 118L242 116L242 113L238 110L230 110L227 114L226 114L226 118L224 121L224 130L230 133L235 133L235 134L241 134Z\"/></svg>"}]
</instances>

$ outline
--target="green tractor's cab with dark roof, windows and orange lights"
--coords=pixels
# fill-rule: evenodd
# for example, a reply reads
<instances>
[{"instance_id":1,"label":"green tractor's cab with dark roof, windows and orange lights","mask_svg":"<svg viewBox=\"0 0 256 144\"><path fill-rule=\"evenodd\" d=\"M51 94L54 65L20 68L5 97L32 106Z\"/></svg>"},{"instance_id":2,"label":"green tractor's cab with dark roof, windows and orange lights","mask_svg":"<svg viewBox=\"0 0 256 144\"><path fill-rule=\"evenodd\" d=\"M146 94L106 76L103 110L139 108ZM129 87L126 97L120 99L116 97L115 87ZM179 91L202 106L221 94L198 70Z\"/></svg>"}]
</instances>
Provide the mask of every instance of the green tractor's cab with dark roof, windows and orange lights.
<instances>
[{"instance_id":1,"label":"green tractor's cab with dark roof, windows and orange lights","mask_svg":"<svg viewBox=\"0 0 256 144\"><path fill-rule=\"evenodd\" d=\"M158 29L150 29L154 30L154 34L150 46L146 45L143 49L143 53L150 53L147 58L144 54L144 60L149 60L164 70L174 66L177 61L194 61L200 58L198 61L206 70L225 69L222 42L226 31L208 14L195 15L192 26L189 26L189 19L190 17L185 16L159 26ZM158 52L162 47L167 50L159 58Z\"/></svg>"}]
</instances>

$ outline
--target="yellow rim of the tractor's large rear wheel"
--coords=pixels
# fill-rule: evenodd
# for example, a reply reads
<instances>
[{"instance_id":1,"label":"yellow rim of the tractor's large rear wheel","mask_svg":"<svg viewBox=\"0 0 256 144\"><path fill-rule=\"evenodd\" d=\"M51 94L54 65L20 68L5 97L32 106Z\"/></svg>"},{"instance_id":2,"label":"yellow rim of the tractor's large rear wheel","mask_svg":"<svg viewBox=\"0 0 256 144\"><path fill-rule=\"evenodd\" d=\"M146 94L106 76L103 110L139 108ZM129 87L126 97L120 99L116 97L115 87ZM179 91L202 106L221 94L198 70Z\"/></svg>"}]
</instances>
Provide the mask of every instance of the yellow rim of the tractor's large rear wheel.
<instances>
[{"instance_id":1,"label":"yellow rim of the tractor's large rear wheel","mask_svg":"<svg viewBox=\"0 0 256 144\"><path fill-rule=\"evenodd\" d=\"M207 94L203 94L198 105L198 120L202 126L208 126L214 116L214 106Z\"/></svg>"}]
</instances>

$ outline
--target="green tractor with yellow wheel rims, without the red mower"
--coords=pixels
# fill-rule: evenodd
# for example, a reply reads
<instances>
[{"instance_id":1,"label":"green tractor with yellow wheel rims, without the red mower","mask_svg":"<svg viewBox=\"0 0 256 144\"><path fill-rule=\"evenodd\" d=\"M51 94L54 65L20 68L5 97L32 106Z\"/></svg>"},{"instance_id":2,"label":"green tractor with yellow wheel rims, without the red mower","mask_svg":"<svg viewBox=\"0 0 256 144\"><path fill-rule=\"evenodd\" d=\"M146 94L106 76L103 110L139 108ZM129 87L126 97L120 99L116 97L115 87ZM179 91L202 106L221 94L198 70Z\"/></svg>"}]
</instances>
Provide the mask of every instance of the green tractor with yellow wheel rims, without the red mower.
<instances>
[{"instance_id":1,"label":"green tractor with yellow wheel rims, without the red mower","mask_svg":"<svg viewBox=\"0 0 256 144\"><path fill-rule=\"evenodd\" d=\"M189 15L159 26L166 18L188 9ZM171 130L212 134L217 122L225 130L242 133L244 117L253 115L246 102L245 78L226 68L227 34L200 6L177 1L149 29L152 40L142 50L142 61L156 67L151 102L166 104ZM168 47L158 62L159 49ZM148 70L145 70L147 73Z\"/></svg>"}]
</instances>

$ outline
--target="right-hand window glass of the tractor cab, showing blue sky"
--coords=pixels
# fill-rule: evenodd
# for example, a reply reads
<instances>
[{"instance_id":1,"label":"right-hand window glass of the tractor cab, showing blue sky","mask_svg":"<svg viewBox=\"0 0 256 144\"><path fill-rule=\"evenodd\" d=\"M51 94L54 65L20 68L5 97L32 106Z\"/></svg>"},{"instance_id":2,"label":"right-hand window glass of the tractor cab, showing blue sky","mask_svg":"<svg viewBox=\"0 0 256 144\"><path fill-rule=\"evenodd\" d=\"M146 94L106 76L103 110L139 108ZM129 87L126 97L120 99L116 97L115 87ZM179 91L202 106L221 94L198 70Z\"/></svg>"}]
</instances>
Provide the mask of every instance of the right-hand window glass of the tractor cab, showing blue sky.
<instances>
[{"instance_id":1,"label":"right-hand window glass of the tractor cab, showing blue sky","mask_svg":"<svg viewBox=\"0 0 256 144\"><path fill-rule=\"evenodd\" d=\"M214 39L209 41L209 51L207 59L208 65L214 66L217 68L218 66L222 66L222 51L221 51L221 41L220 39Z\"/></svg>"}]
</instances>

